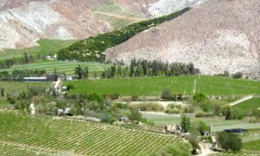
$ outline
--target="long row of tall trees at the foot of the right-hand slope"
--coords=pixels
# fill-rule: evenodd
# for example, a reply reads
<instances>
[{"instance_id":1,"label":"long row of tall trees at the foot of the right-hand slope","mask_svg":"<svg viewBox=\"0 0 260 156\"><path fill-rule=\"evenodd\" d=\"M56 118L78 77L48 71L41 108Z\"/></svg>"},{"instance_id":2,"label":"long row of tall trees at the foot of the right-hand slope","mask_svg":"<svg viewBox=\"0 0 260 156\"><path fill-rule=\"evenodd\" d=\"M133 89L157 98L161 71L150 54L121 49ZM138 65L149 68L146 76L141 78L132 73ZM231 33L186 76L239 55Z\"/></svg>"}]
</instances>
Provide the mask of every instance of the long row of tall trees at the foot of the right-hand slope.
<instances>
[{"instance_id":1,"label":"long row of tall trees at the foot of the right-hand slope","mask_svg":"<svg viewBox=\"0 0 260 156\"><path fill-rule=\"evenodd\" d=\"M200 73L192 63L171 63L162 61L148 61L132 59L129 66L121 67L114 63L109 69L101 73L101 78L125 78L143 76L180 76Z\"/></svg>"}]
</instances>

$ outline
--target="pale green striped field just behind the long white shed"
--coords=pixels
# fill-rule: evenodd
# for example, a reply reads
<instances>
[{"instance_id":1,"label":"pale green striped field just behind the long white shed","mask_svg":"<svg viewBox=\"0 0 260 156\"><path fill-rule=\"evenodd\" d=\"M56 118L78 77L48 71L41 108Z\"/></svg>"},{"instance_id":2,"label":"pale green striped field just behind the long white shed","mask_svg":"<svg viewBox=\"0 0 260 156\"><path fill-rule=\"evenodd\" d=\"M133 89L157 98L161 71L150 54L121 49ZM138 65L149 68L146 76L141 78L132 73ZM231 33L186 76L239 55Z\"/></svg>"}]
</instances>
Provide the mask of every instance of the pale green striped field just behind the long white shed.
<instances>
[{"instance_id":1,"label":"pale green striped field just behind the long white shed","mask_svg":"<svg viewBox=\"0 0 260 156\"><path fill-rule=\"evenodd\" d=\"M110 64L100 64L98 62L44 61L32 64L17 65L9 69L1 69L0 71L11 72L15 69L45 69L47 73L53 73L53 71L57 69L58 72L66 73L67 76L74 76L74 71L75 68L78 67L78 64L89 67L89 76L93 76L94 71L96 71L96 73L101 73L101 71L107 69L107 67L110 67ZM99 75L100 74L98 74L98 76Z\"/></svg>"}]
</instances>

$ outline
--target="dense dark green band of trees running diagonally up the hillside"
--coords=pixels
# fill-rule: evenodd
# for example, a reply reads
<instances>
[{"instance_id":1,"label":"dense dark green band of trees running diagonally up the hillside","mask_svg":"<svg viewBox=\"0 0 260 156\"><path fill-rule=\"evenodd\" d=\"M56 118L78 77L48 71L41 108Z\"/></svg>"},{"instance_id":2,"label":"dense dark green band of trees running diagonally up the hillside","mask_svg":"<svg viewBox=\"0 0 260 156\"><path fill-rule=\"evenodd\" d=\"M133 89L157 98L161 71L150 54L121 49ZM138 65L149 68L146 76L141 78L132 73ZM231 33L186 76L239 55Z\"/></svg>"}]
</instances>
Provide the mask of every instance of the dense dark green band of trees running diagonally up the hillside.
<instances>
[{"instance_id":1,"label":"dense dark green band of trees running diagonally up the hillside","mask_svg":"<svg viewBox=\"0 0 260 156\"><path fill-rule=\"evenodd\" d=\"M96 37L89 37L87 40L76 42L75 44L60 50L58 53L58 59L104 62L104 51L106 49L129 40L141 31L156 26L157 24L162 24L164 21L178 17L187 10L189 10L189 8L184 8L183 10L164 17L141 21L139 23L121 28L121 30L112 31L111 33L100 34Z\"/></svg>"}]
</instances>

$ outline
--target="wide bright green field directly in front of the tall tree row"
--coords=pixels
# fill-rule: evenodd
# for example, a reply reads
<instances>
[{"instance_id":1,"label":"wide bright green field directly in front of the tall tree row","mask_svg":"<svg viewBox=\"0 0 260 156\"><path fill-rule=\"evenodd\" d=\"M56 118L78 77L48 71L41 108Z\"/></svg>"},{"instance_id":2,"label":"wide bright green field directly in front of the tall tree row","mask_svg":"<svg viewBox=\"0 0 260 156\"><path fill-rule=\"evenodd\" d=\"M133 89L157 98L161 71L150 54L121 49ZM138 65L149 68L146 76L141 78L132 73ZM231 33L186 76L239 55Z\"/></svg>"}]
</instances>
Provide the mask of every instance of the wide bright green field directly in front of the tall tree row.
<instances>
[{"instance_id":1,"label":"wide bright green field directly in front of the tall tree row","mask_svg":"<svg viewBox=\"0 0 260 156\"><path fill-rule=\"evenodd\" d=\"M260 82L217 76L172 76L153 78L114 78L102 80L78 80L71 93L121 94L122 96L159 96L163 89L173 94L191 95L195 92L207 96L244 96L260 94Z\"/></svg>"}]
</instances>

